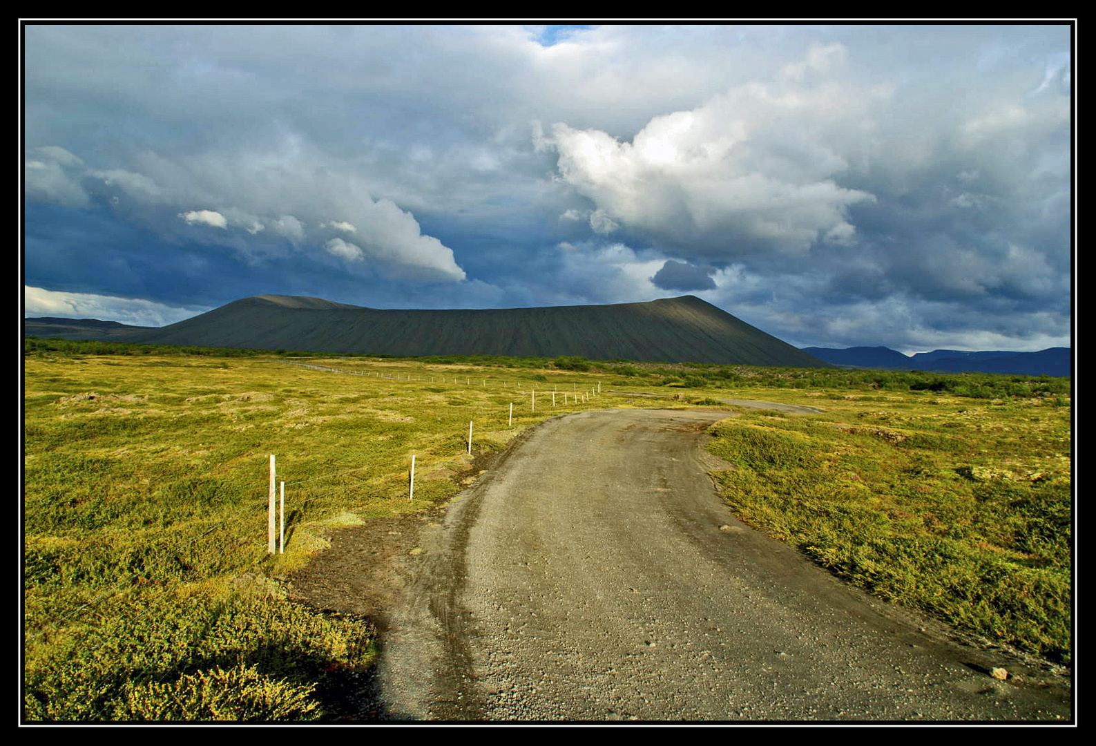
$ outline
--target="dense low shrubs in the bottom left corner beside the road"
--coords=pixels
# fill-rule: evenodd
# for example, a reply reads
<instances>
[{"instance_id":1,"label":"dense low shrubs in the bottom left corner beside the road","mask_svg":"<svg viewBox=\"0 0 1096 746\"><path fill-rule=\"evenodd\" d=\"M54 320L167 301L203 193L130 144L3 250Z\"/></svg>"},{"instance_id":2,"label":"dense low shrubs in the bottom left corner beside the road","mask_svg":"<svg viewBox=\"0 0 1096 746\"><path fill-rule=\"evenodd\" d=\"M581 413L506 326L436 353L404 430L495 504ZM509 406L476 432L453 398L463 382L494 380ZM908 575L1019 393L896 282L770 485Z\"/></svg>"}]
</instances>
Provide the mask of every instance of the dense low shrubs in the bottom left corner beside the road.
<instances>
[{"instance_id":1,"label":"dense low shrubs in the bottom left corner beside the road","mask_svg":"<svg viewBox=\"0 0 1096 746\"><path fill-rule=\"evenodd\" d=\"M27 720L318 720L376 651L362 621L277 598L135 592L28 661ZM164 623L170 620L170 623Z\"/></svg>"}]
</instances>

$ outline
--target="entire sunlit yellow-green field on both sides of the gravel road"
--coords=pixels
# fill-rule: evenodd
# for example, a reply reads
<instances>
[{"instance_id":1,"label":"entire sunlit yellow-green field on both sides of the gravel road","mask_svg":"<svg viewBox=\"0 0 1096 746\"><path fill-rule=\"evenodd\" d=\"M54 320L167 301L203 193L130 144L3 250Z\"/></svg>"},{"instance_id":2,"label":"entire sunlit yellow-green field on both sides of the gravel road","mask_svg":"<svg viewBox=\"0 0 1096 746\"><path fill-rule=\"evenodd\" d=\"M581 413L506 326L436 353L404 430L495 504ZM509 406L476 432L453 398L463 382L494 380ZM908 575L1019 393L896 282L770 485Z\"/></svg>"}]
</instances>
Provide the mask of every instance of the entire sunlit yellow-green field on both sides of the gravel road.
<instances>
[{"instance_id":1,"label":"entire sunlit yellow-green field on both sides of the gravel road","mask_svg":"<svg viewBox=\"0 0 1096 746\"><path fill-rule=\"evenodd\" d=\"M743 520L882 598L1071 657L1069 379L102 344L26 343L28 720L346 715L331 692L372 665L374 630L287 601L287 575L331 528L444 503L472 456L613 406L741 412L709 448Z\"/></svg>"}]
</instances>

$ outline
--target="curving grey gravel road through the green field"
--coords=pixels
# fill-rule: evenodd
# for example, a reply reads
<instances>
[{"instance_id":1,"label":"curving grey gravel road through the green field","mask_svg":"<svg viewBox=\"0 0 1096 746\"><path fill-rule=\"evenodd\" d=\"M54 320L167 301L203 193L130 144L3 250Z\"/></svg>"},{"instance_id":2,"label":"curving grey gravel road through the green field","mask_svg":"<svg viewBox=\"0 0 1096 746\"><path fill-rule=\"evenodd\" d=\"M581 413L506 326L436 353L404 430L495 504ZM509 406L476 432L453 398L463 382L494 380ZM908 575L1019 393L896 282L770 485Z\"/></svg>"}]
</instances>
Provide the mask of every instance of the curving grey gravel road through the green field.
<instances>
[{"instance_id":1,"label":"curving grey gravel road through the green field","mask_svg":"<svg viewBox=\"0 0 1096 746\"><path fill-rule=\"evenodd\" d=\"M727 413L528 431L421 537L379 677L407 720L1070 719L1068 689L847 588L740 524ZM1006 666L1012 676L990 676Z\"/></svg>"}]
</instances>

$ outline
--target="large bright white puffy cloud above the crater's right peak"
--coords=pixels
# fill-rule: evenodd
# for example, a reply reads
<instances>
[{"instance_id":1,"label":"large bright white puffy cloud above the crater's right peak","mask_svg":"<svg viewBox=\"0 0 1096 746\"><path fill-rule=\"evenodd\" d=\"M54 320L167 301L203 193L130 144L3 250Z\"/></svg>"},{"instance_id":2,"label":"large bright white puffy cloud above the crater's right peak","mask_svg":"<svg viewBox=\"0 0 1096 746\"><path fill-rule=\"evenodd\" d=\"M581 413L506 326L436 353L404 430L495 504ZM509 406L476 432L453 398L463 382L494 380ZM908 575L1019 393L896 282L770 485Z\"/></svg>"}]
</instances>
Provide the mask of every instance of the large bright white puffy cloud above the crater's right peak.
<instances>
[{"instance_id":1,"label":"large bright white puffy cloud above the crater's right peak","mask_svg":"<svg viewBox=\"0 0 1096 746\"><path fill-rule=\"evenodd\" d=\"M734 255L737 242L848 243L849 208L876 197L837 183L849 159L829 136L863 126L865 105L850 87L800 84L803 70L829 70L833 55L809 55L781 82L653 117L630 142L557 123L543 144L559 153L560 177L596 206L596 232L624 226L710 259Z\"/></svg>"}]
</instances>

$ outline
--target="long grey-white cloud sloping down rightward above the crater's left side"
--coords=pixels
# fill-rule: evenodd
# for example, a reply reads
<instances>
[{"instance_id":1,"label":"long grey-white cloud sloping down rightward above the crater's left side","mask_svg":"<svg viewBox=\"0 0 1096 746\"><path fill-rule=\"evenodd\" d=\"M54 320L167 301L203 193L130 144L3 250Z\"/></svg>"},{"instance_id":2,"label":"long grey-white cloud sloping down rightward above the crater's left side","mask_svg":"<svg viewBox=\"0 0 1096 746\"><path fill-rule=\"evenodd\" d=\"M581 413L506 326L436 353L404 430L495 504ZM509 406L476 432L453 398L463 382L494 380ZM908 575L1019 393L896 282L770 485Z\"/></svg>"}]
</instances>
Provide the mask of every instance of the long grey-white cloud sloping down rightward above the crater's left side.
<instances>
[{"instance_id":1,"label":"long grey-white cloud sloping down rightward above the crater's left side","mask_svg":"<svg viewBox=\"0 0 1096 746\"><path fill-rule=\"evenodd\" d=\"M374 198L357 175L342 172L322 152L293 135L283 133L265 150L206 152L182 160L146 150L136 161L145 172L90 169L62 148L36 148L28 151L25 164L27 198L73 208L109 205L119 216L145 222L164 238L178 236L235 249L252 266L283 261L288 241L292 250L306 253L320 248L343 259L367 256L369 271L383 277L411 282L466 278L453 250L424 236L410 211L391 199ZM324 161L328 165L317 167ZM84 184L92 183L98 190L89 192ZM310 184L310 188L298 188L298 184ZM192 209L186 205L198 198L219 206ZM160 210L179 203L184 209L175 217L185 226L217 228L219 234L180 233L164 222ZM334 218L332 213L350 219ZM333 246L328 241L331 230L357 237L356 243ZM357 253L350 246L356 246Z\"/></svg>"}]
</instances>

